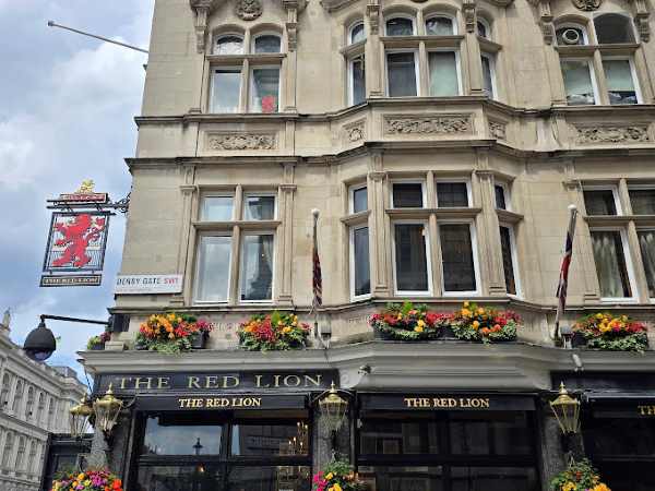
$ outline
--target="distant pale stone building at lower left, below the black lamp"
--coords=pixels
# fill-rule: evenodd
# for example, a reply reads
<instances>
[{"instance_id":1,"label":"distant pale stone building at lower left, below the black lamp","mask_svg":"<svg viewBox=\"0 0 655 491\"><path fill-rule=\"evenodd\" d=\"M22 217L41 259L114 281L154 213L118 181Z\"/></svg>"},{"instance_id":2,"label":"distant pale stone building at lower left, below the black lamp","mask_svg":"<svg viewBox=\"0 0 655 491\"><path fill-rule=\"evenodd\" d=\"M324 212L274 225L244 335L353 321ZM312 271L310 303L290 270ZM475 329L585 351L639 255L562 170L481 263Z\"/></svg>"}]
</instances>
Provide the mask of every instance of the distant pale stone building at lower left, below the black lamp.
<instances>
[{"instance_id":1,"label":"distant pale stone building at lower left, below the black lamp","mask_svg":"<svg viewBox=\"0 0 655 491\"><path fill-rule=\"evenodd\" d=\"M69 409L86 394L74 370L28 359L0 323L0 489L36 491L50 433L69 433ZM74 463L71 463L74 464Z\"/></svg>"}]
</instances>

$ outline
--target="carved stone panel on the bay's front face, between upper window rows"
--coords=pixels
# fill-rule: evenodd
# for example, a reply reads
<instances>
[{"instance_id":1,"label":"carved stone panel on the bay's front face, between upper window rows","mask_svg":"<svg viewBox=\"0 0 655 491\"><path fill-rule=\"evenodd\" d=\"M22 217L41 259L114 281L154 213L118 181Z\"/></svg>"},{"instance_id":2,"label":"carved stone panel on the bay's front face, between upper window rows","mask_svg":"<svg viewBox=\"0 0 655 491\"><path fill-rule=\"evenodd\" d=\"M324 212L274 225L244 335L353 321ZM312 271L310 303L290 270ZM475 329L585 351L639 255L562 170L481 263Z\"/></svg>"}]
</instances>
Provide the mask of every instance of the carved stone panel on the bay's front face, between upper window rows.
<instances>
[{"instance_id":1,"label":"carved stone panel on the bay's front face, between upper window rows","mask_svg":"<svg viewBox=\"0 0 655 491\"><path fill-rule=\"evenodd\" d=\"M384 118L386 134L454 134L471 133L471 115L388 116Z\"/></svg>"}]
</instances>

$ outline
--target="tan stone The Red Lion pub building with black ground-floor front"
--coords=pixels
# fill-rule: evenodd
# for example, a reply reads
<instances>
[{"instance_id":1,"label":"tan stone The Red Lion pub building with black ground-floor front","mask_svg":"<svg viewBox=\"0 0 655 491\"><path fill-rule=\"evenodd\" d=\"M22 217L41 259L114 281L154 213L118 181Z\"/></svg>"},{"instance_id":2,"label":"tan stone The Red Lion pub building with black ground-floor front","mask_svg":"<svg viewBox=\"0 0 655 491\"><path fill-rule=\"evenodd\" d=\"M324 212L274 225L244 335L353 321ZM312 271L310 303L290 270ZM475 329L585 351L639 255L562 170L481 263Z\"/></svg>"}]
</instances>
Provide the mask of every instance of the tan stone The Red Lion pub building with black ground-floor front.
<instances>
[{"instance_id":1,"label":"tan stone The Red Lion pub building with black ground-floor front","mask_svg":"<svg viewBox=\"0 0 655 491\"><path fill-rule=\"evenodd\" d=\"M157 0L121 273L182 287L118 295L128 327L82 354L96 393L130 402L108 453L127 488L309 490L330 456L313 400L334 381L352 394L337 447L371 489L546 491L564 381L612 489L654 489L653 351L553 343L570 204L562 324L654 319L652 8ZM313 208L329 346L239 350L253 313L311 320ZM523 326L493 346L373 339L371 314L405 300ZM135 350L166 310L215 323L209 349Z\"/></svg>"}]
</instances>

